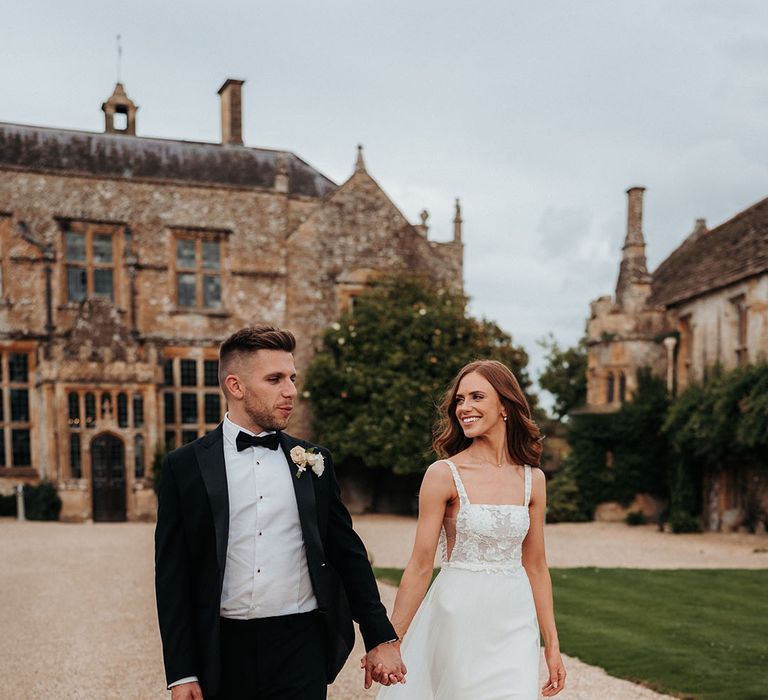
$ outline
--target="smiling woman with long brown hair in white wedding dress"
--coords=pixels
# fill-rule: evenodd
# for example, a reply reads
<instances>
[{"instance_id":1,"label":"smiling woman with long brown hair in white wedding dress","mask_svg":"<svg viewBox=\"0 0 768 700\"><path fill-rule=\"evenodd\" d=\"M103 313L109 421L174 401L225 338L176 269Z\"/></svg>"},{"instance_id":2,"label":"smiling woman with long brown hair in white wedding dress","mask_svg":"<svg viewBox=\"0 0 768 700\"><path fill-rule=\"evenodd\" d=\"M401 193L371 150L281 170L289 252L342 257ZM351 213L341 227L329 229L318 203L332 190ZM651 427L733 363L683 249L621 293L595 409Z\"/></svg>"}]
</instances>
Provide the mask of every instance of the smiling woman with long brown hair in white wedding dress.
<instances>
[{"instance_id":1,"label":"smiling woman with long brown hair in white wedding dress","mask_svg":"<svg viewBox=\"0 0 768 700\"><path fill-rule=\"evenodd\" d=\"M535 700L539 631L542 694L557 695L565 668L544 554L545 477L528 466L539 463L539 429L517 379L493 360L465 366L440 410L433 446L452 456L424 475L392 615L407 685L379 700ZM442 568L429 588L438 542Z\"/></svg>"}]
</instances>

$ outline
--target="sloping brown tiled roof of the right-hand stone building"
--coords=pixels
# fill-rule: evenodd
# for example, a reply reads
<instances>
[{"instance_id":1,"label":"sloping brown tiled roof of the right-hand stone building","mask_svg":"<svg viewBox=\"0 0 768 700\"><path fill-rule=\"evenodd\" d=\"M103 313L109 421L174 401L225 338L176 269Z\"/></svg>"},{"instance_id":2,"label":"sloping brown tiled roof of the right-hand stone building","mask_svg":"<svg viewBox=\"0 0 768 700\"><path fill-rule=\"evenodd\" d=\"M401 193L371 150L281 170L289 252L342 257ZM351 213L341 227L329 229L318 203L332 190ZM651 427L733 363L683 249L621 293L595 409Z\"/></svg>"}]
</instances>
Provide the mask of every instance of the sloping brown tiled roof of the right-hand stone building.
<instances>
[{"instance_id":1,"label":"sloping brown tiled roof of the right-hand stone building","mask_svg":"<svg viewBox=\"0 0 768 700\"><path fill-rule=\"evenodd\" d=\"M694 232L653 273L651 303L673 306L768 271L768 198Z\"/></svg>"}]
</instances>

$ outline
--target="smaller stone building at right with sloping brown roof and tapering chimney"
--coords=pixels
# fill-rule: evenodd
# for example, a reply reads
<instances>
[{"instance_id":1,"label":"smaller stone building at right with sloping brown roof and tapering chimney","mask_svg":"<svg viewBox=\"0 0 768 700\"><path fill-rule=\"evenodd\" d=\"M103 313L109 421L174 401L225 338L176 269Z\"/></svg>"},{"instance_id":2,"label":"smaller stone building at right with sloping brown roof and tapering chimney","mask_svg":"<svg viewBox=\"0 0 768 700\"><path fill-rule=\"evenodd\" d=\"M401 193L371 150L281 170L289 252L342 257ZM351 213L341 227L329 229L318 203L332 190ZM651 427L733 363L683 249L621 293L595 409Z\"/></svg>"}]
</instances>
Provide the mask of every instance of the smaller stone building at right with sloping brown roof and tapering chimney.
<instances>
[{"instance_id":1,"label":"smaller stone building at right with sloping brown roof and tapering chimney","mask_svg":"<svg viewBox=\"0 0 768 700\"><path fill-rule=\"evenodd\" d=\"M645 257L642 187L627 191L627 233L616 291L592 302L587 325L586 411L614 411L636 389L637 370L666 377L671 393L702 381L715 365L733 369L768 361L768 199L708 229L693 231L654 272ZM767 458L768 459L768 458ZM720 529L723 515L746 498L751 475L709 475L704 518ZM763 501L768 509L768 483Z\"/></svg>"}]
</instances>

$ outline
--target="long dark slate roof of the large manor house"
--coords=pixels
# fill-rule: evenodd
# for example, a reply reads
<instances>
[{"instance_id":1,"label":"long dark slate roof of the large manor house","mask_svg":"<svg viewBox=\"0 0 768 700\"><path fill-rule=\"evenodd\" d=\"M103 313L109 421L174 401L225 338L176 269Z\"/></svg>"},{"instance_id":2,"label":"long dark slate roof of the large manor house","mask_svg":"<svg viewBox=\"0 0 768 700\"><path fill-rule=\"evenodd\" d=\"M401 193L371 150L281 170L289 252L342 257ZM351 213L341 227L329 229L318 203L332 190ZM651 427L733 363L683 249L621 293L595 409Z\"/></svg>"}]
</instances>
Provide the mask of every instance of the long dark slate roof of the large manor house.
<instances>
[{"instance_id":1,"label":"long dark slate roof of the large manor house","mask_svg":"<svg viewBox=\"0 0 768 700\"><path fill-rule=\"evenodd\" d=\"M0 167L273 187L280 151L0 123ZM283 152L292 194L323 197L336 184L301 158Z\"/></svg>"}]
</instances>

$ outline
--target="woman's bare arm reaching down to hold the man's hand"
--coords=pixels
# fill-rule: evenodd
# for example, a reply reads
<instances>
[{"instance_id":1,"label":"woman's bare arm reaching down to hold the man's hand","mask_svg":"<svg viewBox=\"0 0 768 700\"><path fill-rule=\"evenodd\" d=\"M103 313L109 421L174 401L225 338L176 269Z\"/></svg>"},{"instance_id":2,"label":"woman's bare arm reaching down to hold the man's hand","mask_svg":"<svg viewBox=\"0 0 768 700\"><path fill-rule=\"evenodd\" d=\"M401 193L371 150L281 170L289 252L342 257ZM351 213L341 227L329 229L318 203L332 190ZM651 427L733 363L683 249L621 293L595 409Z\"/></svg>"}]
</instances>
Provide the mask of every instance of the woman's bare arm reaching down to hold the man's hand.
<instances>
[{"instance_id":1,"label":"woman's bare arm reaching down to hold the man's hand","mask_svg":"<svg viewBox=\"0 0 768 700\"><path fill-rule=\"evenodd\" d=\"M445 506L455 497L456 488L448 465L445 462L431 464L421 482L416 540L408 566L403 572L392 613L392 625L401 639L429 588Z\"/></svg>"}]
</instances>

